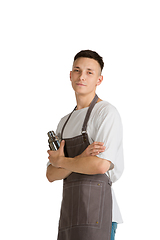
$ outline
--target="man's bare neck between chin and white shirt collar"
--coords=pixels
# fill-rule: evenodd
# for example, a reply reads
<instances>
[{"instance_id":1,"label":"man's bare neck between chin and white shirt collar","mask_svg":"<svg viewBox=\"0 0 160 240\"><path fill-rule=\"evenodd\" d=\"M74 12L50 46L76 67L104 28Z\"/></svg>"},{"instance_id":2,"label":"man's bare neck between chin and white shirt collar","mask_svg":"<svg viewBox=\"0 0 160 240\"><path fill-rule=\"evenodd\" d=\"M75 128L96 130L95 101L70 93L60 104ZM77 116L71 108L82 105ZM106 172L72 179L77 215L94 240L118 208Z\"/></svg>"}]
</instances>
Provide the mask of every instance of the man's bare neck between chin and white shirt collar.
<instances>
[{"instance_id":1,"label":"man's bare neck between chin and white shirt collar","mask_svg":"<svg viewBox=\"0 0 160 240\"><path fill-rule=\"evenodd\" d=\"M89 107L94 96L95 96L95 93L91 93L87 95L76 94L77 110Z\"/></svg>"}]
</instances>

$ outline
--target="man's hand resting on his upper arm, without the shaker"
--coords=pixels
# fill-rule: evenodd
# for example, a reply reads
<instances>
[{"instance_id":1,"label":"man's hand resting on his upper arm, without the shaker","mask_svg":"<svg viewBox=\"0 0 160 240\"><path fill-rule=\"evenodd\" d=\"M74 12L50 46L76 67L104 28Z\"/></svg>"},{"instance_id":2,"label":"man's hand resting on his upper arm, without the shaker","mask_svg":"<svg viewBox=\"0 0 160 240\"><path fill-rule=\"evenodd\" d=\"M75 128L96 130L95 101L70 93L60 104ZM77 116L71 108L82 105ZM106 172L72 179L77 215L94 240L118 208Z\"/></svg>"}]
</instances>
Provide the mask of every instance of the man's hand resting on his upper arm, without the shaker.
<instances>
[{"instance_id":1,"label":"man's hand resting on his upper arm, without the shaker","mask_svg":"<svg viewBox=\"0 0 160 240\"><path fill-rule=\"evenodd\" d=\"M106 147L104 146L103 142L93 142L78 157L96 156L99 153L104 152L105 149Z\"/></svg>"}]
</instances>

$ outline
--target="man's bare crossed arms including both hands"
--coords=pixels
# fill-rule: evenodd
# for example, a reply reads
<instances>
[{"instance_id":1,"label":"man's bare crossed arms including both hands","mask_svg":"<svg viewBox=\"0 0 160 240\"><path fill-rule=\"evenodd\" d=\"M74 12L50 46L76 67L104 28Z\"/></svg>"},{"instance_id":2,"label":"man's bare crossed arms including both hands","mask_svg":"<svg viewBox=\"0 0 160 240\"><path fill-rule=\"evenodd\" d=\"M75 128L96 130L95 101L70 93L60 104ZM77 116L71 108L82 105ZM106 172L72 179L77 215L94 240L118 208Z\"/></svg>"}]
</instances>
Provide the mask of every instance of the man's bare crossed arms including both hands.
<instances>
[{"instance_id":1,"label":"man's bare crossed arms including both hands","mask_svg":"<svg viewBox=\"0 0 160 240\"><path fill-rule=\"evenodd\" d=\"M81 155L75 158L64 156L64 144L65 141L63 140L57 151L48 151L48 159L51 165L47 168L46 177L49 182L64 179L72 172L92 175L104 174L110 169L110 161L96 156L105 150L103 143L92 143Z\"/></svg>"}]
</instances>

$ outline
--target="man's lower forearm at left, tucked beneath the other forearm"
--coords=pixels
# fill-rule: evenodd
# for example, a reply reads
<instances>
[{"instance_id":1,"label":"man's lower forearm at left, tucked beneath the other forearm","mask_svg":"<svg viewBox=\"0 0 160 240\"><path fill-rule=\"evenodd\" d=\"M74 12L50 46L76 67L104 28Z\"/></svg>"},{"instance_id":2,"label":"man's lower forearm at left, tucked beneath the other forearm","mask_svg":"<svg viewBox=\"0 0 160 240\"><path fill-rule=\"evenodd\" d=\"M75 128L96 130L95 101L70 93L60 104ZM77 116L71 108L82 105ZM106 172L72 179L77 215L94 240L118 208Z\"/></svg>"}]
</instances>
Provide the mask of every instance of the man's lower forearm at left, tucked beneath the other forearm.
<instances>
[{"instance_id":1,"label":"man's lower forearm at left, tucked beneath the other forearm","mask_svg":"<svg viewBox=\"0 0 160 240\"><path fill-rule=\"evenodd\" d=\"M61 180L68 177L72 172L63 168L56 168L49 165L46 172L46 177L49 182Z\"/></svg>"}]
</instances>

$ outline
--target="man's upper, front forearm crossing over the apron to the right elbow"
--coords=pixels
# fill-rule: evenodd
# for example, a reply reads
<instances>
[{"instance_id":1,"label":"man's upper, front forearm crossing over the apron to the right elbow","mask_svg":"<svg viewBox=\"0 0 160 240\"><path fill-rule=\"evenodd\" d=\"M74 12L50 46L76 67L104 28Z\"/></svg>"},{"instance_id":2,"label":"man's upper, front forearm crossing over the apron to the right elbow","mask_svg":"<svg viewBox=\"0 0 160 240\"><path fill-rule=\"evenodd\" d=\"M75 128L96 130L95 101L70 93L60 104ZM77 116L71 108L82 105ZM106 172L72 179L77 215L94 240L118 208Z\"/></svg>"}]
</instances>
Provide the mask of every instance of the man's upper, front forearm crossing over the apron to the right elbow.
<instances>
[{"instance_id":1,"label":"man's upper, front forearm crossing over the apron to the right elbow","mask_svg":"<svg viewBox=\"0 0 160 240\"><path fill-rule=\"evenodd\" d=\"M59 164L60 167L68 171L91 175L104 174L110 168L110 161L96 156L75 158L60 157Z\"/></svg>"}]
</instances>

